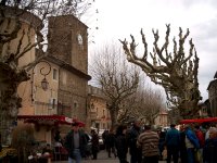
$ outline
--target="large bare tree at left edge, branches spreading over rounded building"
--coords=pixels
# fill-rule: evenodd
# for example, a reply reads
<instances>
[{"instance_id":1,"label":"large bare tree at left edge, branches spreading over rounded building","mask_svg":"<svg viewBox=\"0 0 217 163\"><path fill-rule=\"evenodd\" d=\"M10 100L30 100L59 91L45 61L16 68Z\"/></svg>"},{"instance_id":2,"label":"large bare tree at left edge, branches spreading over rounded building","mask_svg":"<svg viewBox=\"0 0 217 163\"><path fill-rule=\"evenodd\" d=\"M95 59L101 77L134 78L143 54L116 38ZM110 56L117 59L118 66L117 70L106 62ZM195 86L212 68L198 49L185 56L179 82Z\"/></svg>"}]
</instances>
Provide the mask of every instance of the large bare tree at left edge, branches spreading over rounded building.
<instances>
[{"instance_id":1,"label":"large bare tree at left edge, branches spreading over rounded building","mask_svg":"<svg viewBox=\"0 0 217 163\"><path fill-rule=\"evenodd\" d=\"M10 145L11 126L21 108L17 87L29 79L28 71L49 53L49 48L43 51L48 17L65 14L80 17L88 7L87 0L0 1L0 134L3 145ZM39 51L36 60L20 65L24 55L35 48Z\"/></svg>"}]
</instances>

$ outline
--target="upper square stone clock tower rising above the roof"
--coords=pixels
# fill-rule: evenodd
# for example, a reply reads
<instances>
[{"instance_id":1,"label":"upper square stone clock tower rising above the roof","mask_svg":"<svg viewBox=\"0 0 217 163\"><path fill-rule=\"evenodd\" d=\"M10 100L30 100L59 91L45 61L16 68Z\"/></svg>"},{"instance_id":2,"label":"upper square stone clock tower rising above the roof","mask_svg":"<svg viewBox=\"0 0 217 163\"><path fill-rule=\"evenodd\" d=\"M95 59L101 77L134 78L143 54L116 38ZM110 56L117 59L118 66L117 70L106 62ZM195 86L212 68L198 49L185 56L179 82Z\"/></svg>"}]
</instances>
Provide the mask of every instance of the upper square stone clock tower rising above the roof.
<instances>
[{"instance_id":1,"label":"upper square stone clock tower rising above the roof","mask_svg":"<svg viewBox=\"0 0 217 163\"><path fill-rule=\"evenodd\" d=\"M79 43L78 35L82 37ZM87 26L73 15L49 18L49 53L79 71L88 72Z\"/></svg>"}]
</instances>

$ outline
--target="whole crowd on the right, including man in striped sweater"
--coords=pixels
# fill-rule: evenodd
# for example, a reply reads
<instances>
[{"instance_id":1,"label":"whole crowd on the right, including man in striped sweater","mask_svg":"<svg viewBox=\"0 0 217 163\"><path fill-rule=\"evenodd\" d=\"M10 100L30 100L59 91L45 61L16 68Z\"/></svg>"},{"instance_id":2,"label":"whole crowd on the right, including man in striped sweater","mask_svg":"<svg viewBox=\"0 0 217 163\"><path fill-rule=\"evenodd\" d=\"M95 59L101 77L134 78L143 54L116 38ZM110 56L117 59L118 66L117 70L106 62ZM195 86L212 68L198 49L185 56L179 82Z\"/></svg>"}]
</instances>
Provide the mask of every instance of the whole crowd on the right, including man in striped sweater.
<instances>
[{"instance_id":1,"label":"whole crowd on the right, including man in striped sweater","mask_svg":"<svg viewBox=\"0 0 217 163\"><path fill-rule=\"evenodd\" d=\"M217 163L217 128L210 124L187 124L179 129L171 124L168 130L157 130L135 121L130 128L118 126L113 139L119 163L128 163L128 152L130 163Z\"/></svg>"}]
</instances>

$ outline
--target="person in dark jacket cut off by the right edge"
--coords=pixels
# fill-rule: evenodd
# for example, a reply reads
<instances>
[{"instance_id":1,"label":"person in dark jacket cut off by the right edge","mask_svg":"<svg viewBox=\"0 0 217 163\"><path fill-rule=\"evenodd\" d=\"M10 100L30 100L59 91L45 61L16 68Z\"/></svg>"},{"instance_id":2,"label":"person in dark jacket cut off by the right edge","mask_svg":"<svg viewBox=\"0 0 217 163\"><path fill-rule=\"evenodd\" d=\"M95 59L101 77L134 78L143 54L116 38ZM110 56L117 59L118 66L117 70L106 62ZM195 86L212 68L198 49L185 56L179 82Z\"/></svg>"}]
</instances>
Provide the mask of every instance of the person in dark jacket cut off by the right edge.
<instances>
[{"instance_id":1,"label":"person in dark jacket cut off by the right edge","mask_svg":"<svg viewBox=\"0 0 217 163\"><path fill-rule=\"evenodd\" d=\"M203 149L204 163L217 163L217 128L210 127L209 138L205 141Z\"/></svg>"}]
</instances>

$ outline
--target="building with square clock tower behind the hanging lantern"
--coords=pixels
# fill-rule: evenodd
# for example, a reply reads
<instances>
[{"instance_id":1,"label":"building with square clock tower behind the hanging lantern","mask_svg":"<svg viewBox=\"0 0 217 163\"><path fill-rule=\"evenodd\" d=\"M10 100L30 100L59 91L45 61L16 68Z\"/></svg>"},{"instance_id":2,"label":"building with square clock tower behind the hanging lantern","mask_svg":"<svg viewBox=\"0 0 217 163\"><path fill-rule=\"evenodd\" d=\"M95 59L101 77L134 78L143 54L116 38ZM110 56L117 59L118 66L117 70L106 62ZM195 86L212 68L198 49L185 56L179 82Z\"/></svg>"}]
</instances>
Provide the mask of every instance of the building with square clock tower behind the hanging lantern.
<instances>
[{"instance_id":1,"label":"building with square clock tower behind the hanging lantern","mask_svg":"<svg viewBox=\"0 0 217 163\"><path fill-rule=\"evenodd\" d=\"M30 79L20 86L23 106L18 125L27 122L35 128L37 141L53 145L55 131L64 137L73 120L87 123L91 78L87 74L87 26L73 15L50 17L48 43L48 55L29 72ZM46 90L41 85L44 78L49 84Z\"/></svg>"}]
</instances>

